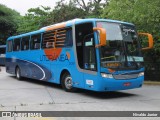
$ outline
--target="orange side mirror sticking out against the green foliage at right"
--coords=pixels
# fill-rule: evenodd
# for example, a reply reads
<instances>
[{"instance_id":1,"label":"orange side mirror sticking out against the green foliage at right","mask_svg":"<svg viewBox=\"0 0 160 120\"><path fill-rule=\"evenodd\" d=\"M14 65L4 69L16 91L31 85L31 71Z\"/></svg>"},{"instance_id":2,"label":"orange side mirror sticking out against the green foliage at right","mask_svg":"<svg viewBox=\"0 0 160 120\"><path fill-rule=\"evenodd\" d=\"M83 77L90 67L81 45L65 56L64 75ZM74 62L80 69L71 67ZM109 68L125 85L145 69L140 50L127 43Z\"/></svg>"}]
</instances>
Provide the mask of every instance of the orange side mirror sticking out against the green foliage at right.
<instances>
[{"instance_id":1,"label":"orange side mirror sticking out against the green foliage at right","mask_svg":"<svg viewBox=\"0 0 160 120\"><path fill-rule=\"evenodd\" d=\"M147 36L148 37L148 47L142 48L142 50L149 50L153 48L153 37L149 33L138 33L140 36Z\"/></svg>"}]
</instances>

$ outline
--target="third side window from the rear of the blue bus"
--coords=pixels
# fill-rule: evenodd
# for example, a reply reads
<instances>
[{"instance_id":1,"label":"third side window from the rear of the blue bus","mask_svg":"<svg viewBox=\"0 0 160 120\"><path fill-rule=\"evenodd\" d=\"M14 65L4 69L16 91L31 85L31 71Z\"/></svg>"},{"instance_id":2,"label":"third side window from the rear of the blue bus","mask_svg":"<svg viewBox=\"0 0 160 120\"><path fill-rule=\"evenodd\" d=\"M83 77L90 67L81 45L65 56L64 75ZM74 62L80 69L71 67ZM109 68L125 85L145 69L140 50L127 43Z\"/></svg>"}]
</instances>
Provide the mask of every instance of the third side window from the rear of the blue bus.
<instances>
[{"instance_id":1,"label":"third side window from the rear of the blue bus","mask_svg":"<svg viewBox=\"0 0 160 120\"><path fill-rule=\"evenodd\" d=\"M21 40L21 50L28 50L29 49L29 39L30 37L23 37Z\"/></svg>"}]
</instances>

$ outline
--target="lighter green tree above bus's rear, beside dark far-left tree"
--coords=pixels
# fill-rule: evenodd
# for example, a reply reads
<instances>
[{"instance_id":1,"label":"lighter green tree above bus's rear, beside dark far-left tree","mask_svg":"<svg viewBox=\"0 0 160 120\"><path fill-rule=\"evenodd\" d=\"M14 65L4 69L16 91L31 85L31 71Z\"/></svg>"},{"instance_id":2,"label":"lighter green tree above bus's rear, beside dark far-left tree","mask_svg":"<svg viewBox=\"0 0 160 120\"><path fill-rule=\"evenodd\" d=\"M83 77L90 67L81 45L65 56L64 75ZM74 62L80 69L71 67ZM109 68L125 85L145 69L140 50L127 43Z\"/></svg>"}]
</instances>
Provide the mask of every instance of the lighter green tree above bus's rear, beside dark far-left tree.
<instances>
[{"instance_id":1,"label":"lighter green tree above bus's rear, beside dark far-left tree","mask_svg":"<svg viewBox=\"0 0 160 120\"><path fill-rule=\"evenodd\" d=\"M30 8L28 13L21 17L21 22L19 23L17 32L19 34L31 32L48 25L48 21L46 19L50 16L50 10L50 7L44 6Z\"/></svg>"}]
</instances>

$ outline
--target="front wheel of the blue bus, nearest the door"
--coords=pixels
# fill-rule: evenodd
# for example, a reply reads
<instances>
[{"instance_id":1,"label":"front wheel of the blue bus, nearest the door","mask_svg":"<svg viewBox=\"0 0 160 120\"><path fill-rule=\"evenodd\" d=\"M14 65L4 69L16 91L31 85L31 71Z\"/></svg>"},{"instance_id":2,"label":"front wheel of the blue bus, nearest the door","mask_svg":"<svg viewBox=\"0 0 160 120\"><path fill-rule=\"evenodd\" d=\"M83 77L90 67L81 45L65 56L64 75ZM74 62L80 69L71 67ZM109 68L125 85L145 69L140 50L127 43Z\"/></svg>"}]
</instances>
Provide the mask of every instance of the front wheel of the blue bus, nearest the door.
<instances>
[{"instance_id":1,"label":"front wheel of the blue bus, nearest the door","mask_svg":"<svg viewBox=\"0 0 160 120\"><path fill-rule=\"evenodd\" d=\"M71 77L71 75L69 73L65 73L62 76L61 84L62 84L62 88L66 92L74 92L74 91L76 91L76 88L73 87L72 77Z\"/></svg>"}]
</instances>

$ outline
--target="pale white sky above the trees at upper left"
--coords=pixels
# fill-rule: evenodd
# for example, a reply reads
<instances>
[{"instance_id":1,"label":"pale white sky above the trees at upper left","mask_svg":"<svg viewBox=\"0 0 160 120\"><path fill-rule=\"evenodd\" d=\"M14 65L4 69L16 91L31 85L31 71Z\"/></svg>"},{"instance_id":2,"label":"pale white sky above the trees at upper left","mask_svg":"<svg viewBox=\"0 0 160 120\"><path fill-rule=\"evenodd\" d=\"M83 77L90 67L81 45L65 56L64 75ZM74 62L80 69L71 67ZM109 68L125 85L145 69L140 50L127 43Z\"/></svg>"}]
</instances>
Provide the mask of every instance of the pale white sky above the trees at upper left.
<instances>
[{"instance_id":1,"label":"pale white sky above the trees at upper left","mask_svg":"<svg viewBox=\"0 0 160 120\"><path fill-rule=\"evenodd\" d=\"M59 0L0 0L0 4L16 10L21 15L25 15L29 8L36 8L41 5L53 8Z\"/></svg>"}]
</instances>

